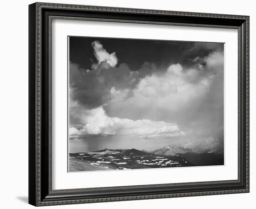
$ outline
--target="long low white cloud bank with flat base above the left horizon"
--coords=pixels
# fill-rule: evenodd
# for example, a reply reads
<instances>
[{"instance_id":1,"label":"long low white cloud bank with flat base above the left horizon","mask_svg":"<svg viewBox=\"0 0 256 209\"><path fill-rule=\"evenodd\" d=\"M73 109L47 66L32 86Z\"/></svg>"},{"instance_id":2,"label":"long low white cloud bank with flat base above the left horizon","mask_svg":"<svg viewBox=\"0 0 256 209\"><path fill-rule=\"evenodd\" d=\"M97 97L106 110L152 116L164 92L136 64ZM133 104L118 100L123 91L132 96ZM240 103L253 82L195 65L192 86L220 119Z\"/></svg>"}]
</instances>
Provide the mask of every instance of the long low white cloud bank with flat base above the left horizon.
<instances>
[{"instance_id":1,"label":"long low white cloud bank with flat base above the left horizon","mask_svg":"<svg viewBox=\"0 0 256 209\"><path fill-rule=\"evenodd\" d=\"M69 129L73 137L87 135L118 135L139 138L154 138L162 136L182 136L177 124L164 121L151 121L148 119L131 120L127 118L108 117L102 107L84 111L84 122L80 130L74 127Z\"/></svg>"}]
</instances>

